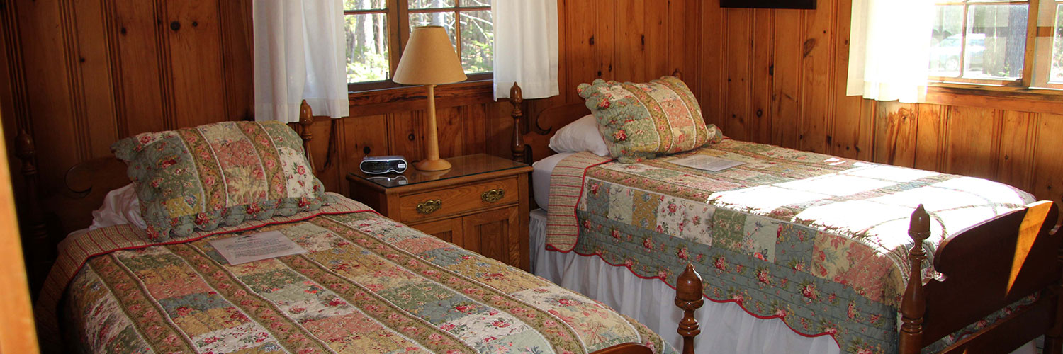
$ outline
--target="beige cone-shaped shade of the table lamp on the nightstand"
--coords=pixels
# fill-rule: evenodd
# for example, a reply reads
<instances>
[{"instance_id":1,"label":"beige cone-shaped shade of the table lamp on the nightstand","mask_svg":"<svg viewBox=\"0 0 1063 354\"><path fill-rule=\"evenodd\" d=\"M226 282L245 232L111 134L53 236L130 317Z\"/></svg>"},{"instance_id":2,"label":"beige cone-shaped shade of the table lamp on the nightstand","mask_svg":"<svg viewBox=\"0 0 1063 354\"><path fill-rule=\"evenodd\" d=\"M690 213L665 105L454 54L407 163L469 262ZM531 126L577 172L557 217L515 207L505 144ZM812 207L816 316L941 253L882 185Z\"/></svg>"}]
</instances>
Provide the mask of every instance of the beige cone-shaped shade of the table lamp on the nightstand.
<instances>
[{"instance_id":1,"label":"beige cone-shaped shade of the table lamp on the nightstand","mask_svg":"<svg viewBox=\"0 0 1063 354\"><path fill-rule=\"evenodd\" d=\"M446 30L425 26L414 28L391 80L406 85L439 85L466 79Z\"/></svg>"}]
</instances>

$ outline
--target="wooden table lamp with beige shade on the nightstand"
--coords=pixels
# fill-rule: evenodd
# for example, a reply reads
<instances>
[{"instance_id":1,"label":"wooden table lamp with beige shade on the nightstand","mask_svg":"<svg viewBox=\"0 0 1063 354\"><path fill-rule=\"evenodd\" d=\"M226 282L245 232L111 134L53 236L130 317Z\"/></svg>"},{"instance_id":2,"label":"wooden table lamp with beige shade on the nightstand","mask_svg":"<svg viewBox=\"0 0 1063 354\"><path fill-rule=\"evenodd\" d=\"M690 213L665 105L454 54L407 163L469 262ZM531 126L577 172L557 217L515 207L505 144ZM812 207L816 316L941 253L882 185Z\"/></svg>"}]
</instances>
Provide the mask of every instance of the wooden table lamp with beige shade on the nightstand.
<instances>
[{"instance_id":1,"label":"wooden table lamp with beige shade on the nightstand","mask_svg":"<svg viewBox=\"0 0 1063 354\"><path fill-rule=\"evenodd\" d=\"M440 171L451 168L451 163L439 158L439 137L436 133L436 94L439 84L450 84L468 79L458 54L454 52L446 30L438 26L414 28L399 60L399 68L391 80L404 85L428 87L428 154L414 164L422 171Z\"/></svg>"}]
</instances>

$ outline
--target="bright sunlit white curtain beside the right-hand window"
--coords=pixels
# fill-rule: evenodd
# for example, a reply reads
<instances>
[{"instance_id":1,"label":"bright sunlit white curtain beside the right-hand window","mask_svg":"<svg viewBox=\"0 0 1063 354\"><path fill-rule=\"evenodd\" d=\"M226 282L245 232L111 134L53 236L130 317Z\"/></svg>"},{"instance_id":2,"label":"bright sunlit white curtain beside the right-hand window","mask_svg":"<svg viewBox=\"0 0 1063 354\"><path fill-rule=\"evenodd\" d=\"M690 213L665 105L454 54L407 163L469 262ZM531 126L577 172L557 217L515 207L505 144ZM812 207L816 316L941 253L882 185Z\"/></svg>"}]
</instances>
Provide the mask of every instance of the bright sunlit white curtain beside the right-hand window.
<instances>
[{"instance_id":1,"label":"bright sunlit white curtain beside the right-hand window","mask_svg":"<svg viewBox=\"0 0 1063 354\"><path fill-rule=\"evenodd\" d=\"M846 95L923 101L933 5L929 0L853 0Z\"/></svg>"}]
</instances>

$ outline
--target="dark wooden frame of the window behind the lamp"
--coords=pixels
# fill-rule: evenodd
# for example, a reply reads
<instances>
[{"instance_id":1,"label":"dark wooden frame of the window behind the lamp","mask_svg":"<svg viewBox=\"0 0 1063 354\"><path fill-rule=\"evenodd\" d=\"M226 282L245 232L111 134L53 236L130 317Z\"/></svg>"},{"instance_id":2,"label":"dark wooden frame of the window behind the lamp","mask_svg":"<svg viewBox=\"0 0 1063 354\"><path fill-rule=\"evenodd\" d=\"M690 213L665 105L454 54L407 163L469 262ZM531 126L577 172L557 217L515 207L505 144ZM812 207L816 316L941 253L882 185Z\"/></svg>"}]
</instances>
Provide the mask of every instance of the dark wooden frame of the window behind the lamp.
<instances>
[{"instance_id":1,"label":"dark wooden frame of the window behind the lamp","mask_svg":"<svg viewBox=\"0 0 1063 354\"><path fill-rule=\"evenodd\" d=\"M452 7L435 7L435 9L409 9L408 0L385 0L385 5L387 9L383 10L343 10L343 16L348 15L365 15L365 14L385 14L387 16L387 28L388 28L388 75L386 80L378 81L366 81L357 83L348 83L347 90L349 94L379 90L387 88L404 87L402 84L398 84L391 81L394 77L395 69L399 67L399 60L402 58L402 52L406 49L406 40L409 39L409 17L412 14L431 14L431 13L453 13L454 14L454 27L455 27L455 44L457 44L457 50L461 50L461 12L471 11L490 11L491 6L461 6L461 1L454 0L454 6ZM493 22L493 19L492 19ZM461 53L458 53L458 57ZM467 81L489 81L494 78L494 72L477 72L468 73L469 79Z\"/></svg>"}]
</instances>

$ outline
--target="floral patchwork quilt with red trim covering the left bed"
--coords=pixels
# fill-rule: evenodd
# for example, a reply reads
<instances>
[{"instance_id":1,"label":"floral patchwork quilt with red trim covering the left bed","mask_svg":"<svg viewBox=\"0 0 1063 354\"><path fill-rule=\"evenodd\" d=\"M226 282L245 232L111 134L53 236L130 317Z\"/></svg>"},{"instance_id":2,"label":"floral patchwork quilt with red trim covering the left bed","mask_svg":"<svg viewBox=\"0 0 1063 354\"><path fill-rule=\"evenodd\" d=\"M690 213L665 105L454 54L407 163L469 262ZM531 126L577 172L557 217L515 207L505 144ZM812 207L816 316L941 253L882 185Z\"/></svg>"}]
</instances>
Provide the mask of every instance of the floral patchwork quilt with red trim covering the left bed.
<instances>
[{"instance_id":1,"label":"floral patchwork quilt with red trim covering the left bed","mask_svg":"<svg viewBox=\"0 0 1063 354\"><path fill-rule=\"evenodd\" d=\"M64 335L90 353L589 353L624 342L675 353L605 305L334 197L339 205L315 214L167 245L138 243L144 231L129 226L90 232L67 247L74 260L53 270L38 309L62 304ZM230 266L208 242L263 231L308 252Z\"/></svg>"}]
</instances>

